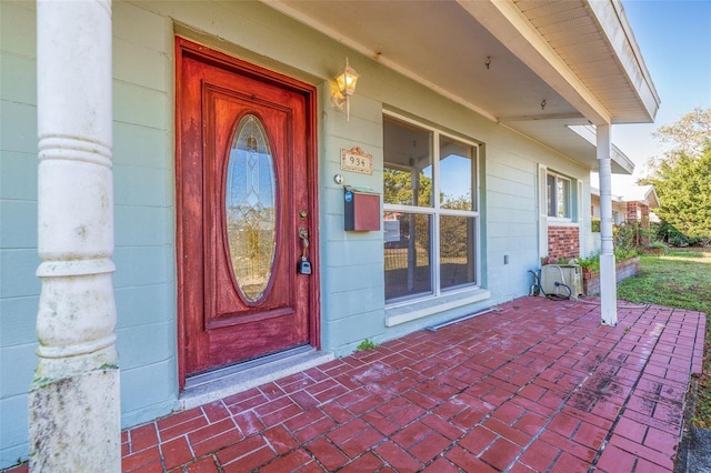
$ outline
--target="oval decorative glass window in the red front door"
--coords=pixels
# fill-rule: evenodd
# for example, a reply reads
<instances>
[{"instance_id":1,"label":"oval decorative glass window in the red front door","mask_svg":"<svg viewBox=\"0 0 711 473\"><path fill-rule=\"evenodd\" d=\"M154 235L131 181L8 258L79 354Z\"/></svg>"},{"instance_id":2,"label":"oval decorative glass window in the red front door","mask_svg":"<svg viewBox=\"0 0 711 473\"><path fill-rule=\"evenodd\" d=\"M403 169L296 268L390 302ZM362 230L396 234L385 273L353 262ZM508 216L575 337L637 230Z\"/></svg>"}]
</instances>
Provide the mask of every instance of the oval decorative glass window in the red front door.
<instances>
[{"instance_id":1,"label":"oval decorative glass window in the red front door","mask_svg":"<svg viewBox=\"0 0 711 473\"><path fill-rule=\"evenodd\" d=\"M242 118L230 149L226 182L227 238L237 285L249 302L269 286L277 251L274 164L264 127Z\"/></svg>"}]
</instances>

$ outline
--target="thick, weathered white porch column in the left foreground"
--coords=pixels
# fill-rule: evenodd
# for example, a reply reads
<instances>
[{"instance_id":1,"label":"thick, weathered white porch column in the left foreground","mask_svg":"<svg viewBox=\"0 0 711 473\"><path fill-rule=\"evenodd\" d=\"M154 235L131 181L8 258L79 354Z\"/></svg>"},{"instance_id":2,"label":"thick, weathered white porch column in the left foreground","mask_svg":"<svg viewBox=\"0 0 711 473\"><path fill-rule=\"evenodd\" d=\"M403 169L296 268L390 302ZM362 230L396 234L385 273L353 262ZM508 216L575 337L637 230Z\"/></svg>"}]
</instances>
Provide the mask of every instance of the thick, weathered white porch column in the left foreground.
<instances>
[{"instance_id":1,"label":"thick, weathered white porch column in the left foreground","mask_svg":"<svg viewBox=\"0 0 711 473\"><path fill-rule=\"evenodd\" d=\"M37 1L37 472L121 470L111 57L110 0Z\"/></svg>"}]
</instances>

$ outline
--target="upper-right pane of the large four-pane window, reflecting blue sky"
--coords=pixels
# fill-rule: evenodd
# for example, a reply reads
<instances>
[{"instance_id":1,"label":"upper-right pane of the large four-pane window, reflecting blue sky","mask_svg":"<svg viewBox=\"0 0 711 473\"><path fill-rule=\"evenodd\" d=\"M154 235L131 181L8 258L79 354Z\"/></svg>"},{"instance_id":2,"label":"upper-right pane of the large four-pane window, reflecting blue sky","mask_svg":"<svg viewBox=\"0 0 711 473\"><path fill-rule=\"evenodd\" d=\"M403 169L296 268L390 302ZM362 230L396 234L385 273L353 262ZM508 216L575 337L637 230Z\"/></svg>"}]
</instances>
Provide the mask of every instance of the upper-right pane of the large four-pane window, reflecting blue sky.
<instances>
[{"instance_id":1,"label":"upper-right pane of the large four-pane window, reflecting blue sky","mask_svg":"<svg viewBox=\"0 0 711 473\"><path fill-rule=\"evenodd\" d=\"M440 138L440 204L442 209L474 210L472 199L474 149Z\"/></svg>"}]
</instances>

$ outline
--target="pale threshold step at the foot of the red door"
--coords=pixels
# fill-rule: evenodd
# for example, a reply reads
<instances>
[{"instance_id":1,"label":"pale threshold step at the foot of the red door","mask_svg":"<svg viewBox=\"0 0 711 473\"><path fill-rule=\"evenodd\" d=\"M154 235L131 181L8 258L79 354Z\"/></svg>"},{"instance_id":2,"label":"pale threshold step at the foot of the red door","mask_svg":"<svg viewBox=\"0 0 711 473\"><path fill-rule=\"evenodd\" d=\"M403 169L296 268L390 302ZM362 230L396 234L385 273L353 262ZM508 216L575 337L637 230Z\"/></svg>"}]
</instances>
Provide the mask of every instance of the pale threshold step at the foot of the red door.
<instances>
[{"instance_id":1,"label":"pale threshold step at the foot of the red door","mask_svg":"<svg viewBox=\"0 0 711 473\"><path fill-rule=\"evenodd\" d=\"M179 409L186 411L197 407L333 359L332 353L306 345L201 373L186 380L186 388L178 400Z\"/></svg>"}]
</instances>

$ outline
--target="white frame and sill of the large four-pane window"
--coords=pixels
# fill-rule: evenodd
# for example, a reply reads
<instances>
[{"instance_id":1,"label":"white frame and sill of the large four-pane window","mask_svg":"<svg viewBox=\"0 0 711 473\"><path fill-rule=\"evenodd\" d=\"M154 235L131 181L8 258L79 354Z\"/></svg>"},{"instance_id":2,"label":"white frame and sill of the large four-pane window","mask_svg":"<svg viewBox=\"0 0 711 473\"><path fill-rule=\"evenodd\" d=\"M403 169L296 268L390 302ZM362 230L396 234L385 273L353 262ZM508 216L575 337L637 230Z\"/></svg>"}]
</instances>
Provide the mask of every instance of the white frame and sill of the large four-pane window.
<instances>
[{"instance_id":1,"label":"white frame and sill of the large four-pane window","mask_svg":"<svg viewBox=\"0 0 711 473\"><path fill-rule=\"evenodd\" d=\"M478 302L483 299L488 299L491 296L489 291L482 290L481 284L481 212L480 212L480 180L479 180L479 158L481 154L481 143L475 142L471 139L462 138L460 135L451 134L443 132L442 130L422 123L420 121L413 120L411 118L401 115L399 113L383 110L383 115L390 117L394 120L402 121L405 123L410 123L413 127L418 127L422 130L430 131L432 133L432 143L437 143L438 145L432 147L432 207L418 207L418 205L398 205L398 204L387 204L383 202L383 212L405 212L405 213L419 213L432 215L432 235L431 235L431 244L432 244L432 261L431 265L431 276L432 276L432 292L428 294L421 295L412 295L407 298L398 298L391 302L385 301L385 325L391 326L399 323L409 322L411 320L420 319L423 316L428 316L434 313L441 313L445 310L453 309L457 306L470 304L473 302ZM452 140L460 141L464 144L471 145L474 149L474 175L472 183L472 199L474 203L475 210L473 211L463 211L463 210L448 210L440 209L440 137L447 137ZM397 169L397 165L393 167ZM473 284L468 284L463 286L452 288L448 290L442 290L440 288L440 215L454 215L454 217L469 217L474 219L474 278L475 281ZM474 295L464 295L467 293L471 293ZM439 302L443 302L443 299L453 298L451 302L444 302L441 304ZM431 301L434 301L432 304ZM421 308L418 310L417 308ZM449 305L452 305L451 308ZM414 310L413 310L414 306ZM405 308L404 314L400 314L402 308Z\"/></svg>"}]
</instances>

